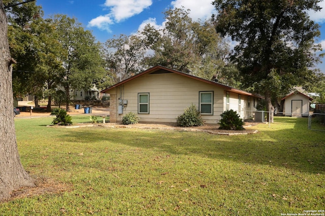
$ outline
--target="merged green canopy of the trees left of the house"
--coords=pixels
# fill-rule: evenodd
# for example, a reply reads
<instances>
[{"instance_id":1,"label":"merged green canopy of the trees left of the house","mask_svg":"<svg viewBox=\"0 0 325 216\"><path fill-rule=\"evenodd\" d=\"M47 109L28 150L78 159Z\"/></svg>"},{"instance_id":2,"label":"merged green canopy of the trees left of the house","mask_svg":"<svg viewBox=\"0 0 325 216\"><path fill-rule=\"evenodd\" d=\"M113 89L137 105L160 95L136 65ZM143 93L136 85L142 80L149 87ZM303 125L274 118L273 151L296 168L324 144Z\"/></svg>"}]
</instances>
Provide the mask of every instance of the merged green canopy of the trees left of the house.
<instances>
[{"instance_id":1,"label":"merged green canopy of the trees left of the house","mask_svg":"<svg viewBox=\"0 0 325 216\"><path fill-rule=\"evenodd\" d=\"M9 3L13 1L6 0ZM101 44L75 18L55 15L44 20L35 2L8 8L7 17L10 51L17 61L16 97L32 93L37 105L37 98L46 96L50 111L59 87L66 90L69 101L71 89L90 89L105 75Z\"/></svg>"}]
</instances>

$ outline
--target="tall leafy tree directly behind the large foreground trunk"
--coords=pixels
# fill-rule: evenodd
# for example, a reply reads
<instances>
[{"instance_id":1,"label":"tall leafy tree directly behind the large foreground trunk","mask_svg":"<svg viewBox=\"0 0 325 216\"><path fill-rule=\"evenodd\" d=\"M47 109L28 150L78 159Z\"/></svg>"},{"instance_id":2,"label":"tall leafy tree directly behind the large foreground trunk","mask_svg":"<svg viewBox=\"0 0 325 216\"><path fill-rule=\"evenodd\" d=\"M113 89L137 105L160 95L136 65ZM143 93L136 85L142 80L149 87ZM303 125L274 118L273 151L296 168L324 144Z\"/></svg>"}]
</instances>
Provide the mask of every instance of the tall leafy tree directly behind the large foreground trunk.
<instances>
[{"instance_id":1,"label":"tall leafy tree directly behind the large foreground trunk","mask_svg":"<svg viewBox=\"0 0 325 216\"><path fill-rule=\"evenodd\" d=\"M12 5L21 1L5 0L5 5ZM42 11L35 2L9 7L8 40L12 57L17 61L13 65L14 96L37 91L39 88L34 73L38 64L38 38L35 35L35 23L41 19Z\"/></svg>"}]
</instances>

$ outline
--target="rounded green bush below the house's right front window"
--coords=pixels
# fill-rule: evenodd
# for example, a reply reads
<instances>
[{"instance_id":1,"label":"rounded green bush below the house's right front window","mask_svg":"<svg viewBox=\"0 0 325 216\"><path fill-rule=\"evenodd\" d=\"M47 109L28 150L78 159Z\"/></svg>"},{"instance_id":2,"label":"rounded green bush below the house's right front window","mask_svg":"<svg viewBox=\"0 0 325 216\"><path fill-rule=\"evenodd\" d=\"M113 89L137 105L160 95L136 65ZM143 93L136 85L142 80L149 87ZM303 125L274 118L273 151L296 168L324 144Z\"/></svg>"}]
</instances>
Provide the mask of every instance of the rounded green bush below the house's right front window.
<instances>
[{"instance_id":1,"label":"rounded green bush below the house's right front window","mask_svg":"<svg viewBox=\"0 0 325 216\"><path fill-rule=\"evenodd\" d=\"M182 115L177 117L176 124L179 127L202 126L204 121L196 106L191 104Z\"/></svg>"}]
</instances>

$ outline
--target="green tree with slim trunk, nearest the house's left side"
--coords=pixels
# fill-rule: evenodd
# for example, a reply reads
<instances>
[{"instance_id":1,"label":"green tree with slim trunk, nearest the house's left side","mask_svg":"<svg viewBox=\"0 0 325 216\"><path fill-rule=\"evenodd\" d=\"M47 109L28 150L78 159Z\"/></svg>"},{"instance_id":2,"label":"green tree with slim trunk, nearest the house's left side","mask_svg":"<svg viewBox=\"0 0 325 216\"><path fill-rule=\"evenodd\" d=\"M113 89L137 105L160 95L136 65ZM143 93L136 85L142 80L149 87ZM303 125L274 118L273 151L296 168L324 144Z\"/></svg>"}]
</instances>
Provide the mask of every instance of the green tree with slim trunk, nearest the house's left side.
<instances>
[{"instance_id":1,"label":"green tree with slim trunk, nearest the house's left side","mask_svg":"<svg viewBox=\"0 0 325 216\"><path fill-rule=\"evenodd\" d=\"M71 90L90 89L104 72L101 44L96 43L92 33L84 30L75 18L55 15L52 22L65 53L58 57L64 68L60 84L66 91L66 110L69 111Z\"/></svg>"}]
</instances>

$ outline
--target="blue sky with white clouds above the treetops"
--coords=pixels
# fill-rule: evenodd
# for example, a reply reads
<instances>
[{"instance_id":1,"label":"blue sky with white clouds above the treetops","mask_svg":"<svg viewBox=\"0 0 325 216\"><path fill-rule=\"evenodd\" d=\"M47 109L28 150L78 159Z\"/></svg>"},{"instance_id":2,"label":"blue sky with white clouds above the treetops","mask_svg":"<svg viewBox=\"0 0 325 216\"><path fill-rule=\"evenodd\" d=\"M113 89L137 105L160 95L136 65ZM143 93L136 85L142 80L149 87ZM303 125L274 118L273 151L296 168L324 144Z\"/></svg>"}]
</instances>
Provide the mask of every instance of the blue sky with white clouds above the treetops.
<instances>
[{"instance_id":1,"label":"blue sky with white clouds above the treetops","mask_svg":"<svg viewBox=\"0 0 325 216\"><path fill-rule=\"evenodd\" d=\"M156 28L164 25L163 12L169 8L190 9L193 20L210 18L216 13L212 0L37 0L42 6L45 18L54 14L67 14L75 17L85 29L91 30L96 39L105 42L114 35L132 34L145 24ZM325 1L320 3L322 11L310 13L310 18L321 25L321 43L325 52ZM325 74L324 63L317 65Z\"/></svg>"}]
</instances>

